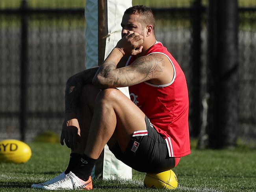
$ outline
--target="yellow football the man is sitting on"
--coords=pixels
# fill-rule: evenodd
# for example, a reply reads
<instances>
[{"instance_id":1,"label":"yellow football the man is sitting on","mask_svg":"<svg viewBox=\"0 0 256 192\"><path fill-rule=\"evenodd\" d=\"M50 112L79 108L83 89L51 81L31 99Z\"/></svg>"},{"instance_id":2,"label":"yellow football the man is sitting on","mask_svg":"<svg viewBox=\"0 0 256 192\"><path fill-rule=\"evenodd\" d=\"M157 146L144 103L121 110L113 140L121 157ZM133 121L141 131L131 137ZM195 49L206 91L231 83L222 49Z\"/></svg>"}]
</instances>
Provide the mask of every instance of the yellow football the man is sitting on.
<instances>
[{"instance_id":1,"label":"yellow football the man is sitting on","mask_svg":"<svg viewBox=\"0 0 256 192\"><path fill-rule=\"evenodd\" d=\"M156 174L147 173L144 177L144 185L148 188L176 189L178 180L172 170Z\"/></svg>"}]
</instances>

